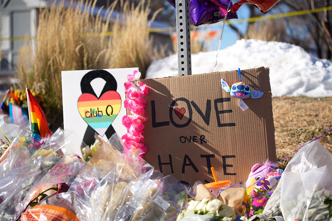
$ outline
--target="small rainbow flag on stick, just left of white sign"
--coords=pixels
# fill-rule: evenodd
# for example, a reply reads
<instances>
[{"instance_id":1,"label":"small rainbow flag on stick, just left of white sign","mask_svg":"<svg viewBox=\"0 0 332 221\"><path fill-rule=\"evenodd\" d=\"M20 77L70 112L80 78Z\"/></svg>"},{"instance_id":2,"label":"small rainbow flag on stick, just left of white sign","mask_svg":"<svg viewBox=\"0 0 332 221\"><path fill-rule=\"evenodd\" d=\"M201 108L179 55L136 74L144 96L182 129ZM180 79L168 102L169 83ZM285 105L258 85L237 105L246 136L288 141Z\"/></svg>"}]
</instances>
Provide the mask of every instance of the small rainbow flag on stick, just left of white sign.
<instances>
[{"instance_id":1,"label":"small rainbow flag on stick, just left of white sign","mask_svg":"<svg viewBox=\"0 0 332 221\"><path fill-rule=\"evenodd\" d=\"M33 138L36 141L41 138L51 136L52 133L48 129L47 120L44 112L39 106L36 98L31 94L30 90L27 88L27 99L29 101L29 117L31 122L31 130L33 133Z\"/></svg>"}]
</instances>

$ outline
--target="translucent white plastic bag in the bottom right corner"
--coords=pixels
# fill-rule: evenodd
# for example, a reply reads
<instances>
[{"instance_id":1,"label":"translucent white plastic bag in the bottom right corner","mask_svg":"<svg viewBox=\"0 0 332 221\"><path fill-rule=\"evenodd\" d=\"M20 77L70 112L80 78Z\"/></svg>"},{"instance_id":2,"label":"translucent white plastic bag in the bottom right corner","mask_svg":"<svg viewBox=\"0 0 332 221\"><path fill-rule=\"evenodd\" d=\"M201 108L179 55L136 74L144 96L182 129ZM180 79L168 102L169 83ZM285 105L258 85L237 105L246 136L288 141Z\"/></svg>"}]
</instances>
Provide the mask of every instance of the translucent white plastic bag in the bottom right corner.
<instances>
[{"instance_id":1,"label":"translucent white plastic bag in the bottom right corner","mask_svg":"<svg viewBox=\"0 0 332 221\"><path fill-rule=\"evenodd\" d=\"M285 221L328 220L332 154L317 140L304 145L282 174L280 209Z\"/></svg>"}]
</instances>

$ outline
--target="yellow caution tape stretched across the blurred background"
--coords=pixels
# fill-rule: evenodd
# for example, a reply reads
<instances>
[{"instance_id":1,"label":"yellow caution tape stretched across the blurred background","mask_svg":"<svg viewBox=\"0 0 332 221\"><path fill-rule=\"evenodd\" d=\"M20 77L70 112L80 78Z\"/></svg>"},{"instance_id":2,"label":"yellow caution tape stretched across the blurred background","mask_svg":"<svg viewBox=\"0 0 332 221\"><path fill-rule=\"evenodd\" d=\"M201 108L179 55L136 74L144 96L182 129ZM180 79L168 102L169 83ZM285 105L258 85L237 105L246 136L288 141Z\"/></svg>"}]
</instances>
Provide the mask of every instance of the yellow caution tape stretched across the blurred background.
<instances>
[{"instance_id":1,"label":"yellow caution tape stretched across the blurred background","mask_svg":"<svg viewBox=\"0 0 332 221\"><path fill-rule=\"evenodd\" d=\"M309 9L309 10L302 10L302 11L295 11L295 12L285 12L280 14L274 14L274 15L264 15L264 16L258 16L258 17L252 17L248 19L234 19L234 20L227 20L226 25L232 25L232 24L239 24L239 23L251 23L251 22L257 22L257 21L264 21L264 20L272 20L272 19L278 19L278 18L285 18L285 17L291 17L291 16L298 16L298 15L305 15L305 14L311 14L316 12L323 12L323 11L330 11L332 10L332 6L323 7L323 8L316 8L316 9ZM220 24L210 24L210 26L219 26ZM203 25L202 27L205 27L207 25ZM193 25L191 26L194 27ZM170 30L176 30L176 27L165 27L165 28L150 28L149 32L160 32L160 31L170 31ZM112 35L112 31L106 32L105 36ZM99 36L100 33L90 33L88 36ZM0 41L22 41L22 40L34 40L36 37L4 37L1 38Z\"/></svg>"}]
</instances>

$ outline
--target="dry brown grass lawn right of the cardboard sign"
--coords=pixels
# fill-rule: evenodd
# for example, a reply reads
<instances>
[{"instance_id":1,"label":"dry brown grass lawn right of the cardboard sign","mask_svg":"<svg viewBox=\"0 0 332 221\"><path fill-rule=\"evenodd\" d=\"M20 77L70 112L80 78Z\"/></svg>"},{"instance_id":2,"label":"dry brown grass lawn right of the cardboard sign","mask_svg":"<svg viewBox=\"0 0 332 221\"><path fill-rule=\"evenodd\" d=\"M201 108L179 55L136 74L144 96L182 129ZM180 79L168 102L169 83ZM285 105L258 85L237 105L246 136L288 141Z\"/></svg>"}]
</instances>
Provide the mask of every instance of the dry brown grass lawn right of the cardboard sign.
<instances>
[{"instance_id":1,"label":"dry brown grass lawn right of the cardboard sign","mask_svg":"<svg viewBox=\"0 0 332 221\"><path fill-rule=\"evenodd\" d=\"M278 160L332 127L332 97L274 97L272 106ZM332 153L332 131L319 142ZM279 168L284 169L294 154Z\"/></svg>"}]
</instances>

